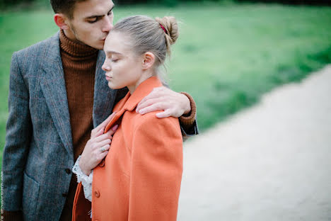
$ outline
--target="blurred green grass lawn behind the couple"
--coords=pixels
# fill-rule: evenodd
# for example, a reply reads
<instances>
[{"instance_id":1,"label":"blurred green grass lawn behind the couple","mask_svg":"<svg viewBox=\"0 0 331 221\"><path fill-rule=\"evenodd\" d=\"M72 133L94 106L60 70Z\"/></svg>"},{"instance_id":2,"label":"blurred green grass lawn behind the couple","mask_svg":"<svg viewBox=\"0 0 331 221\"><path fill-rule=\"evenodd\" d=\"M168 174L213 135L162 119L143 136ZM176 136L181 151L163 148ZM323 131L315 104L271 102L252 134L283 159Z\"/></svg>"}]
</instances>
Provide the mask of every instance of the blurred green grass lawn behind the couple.
<instances>
[{"instance_id":1,"label":"blurred green grass lawn behind the couple","mask_svg":"<svg viewBox=\"0 0 331 221\"><path fill-rule=\"evenodd\" d=\"M134 14L172 15L181 22L168 76L175 91L187 91L194 97L201 130L255 103L274 86L299 81L331 62L331 8L327 7L209 4L115 8L116 19ZM52 11L0 15L1 149L11 55L57 30Z\"/></svg>"}]
</instances>

